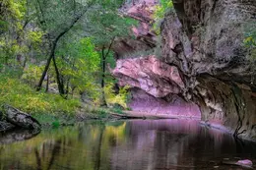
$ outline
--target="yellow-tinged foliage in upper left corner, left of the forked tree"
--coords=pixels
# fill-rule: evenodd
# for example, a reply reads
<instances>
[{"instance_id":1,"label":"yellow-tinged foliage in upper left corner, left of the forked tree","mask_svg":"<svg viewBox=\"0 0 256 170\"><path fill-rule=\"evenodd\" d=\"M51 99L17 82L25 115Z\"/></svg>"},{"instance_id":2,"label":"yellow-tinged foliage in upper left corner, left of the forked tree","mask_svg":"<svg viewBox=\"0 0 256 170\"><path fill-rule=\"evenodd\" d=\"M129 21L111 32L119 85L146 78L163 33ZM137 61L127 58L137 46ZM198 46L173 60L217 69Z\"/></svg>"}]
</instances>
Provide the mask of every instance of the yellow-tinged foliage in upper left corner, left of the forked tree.
<instances>
[{"instance_id":1,"label":"yellow-tinged foliage in upper left corner, left of the forked tree","mask_svg":"<svg viewBox=\"0 0 256 170\"><path fill-rule=\"evenodd\" d=\"M0 8L0 71L22 69L37 55L42 31L36 28L29 0L3 0ZM27 27L29 24L30 27ZM36 51L35 51L36 50Z\"/></svg>"}]
</instances>

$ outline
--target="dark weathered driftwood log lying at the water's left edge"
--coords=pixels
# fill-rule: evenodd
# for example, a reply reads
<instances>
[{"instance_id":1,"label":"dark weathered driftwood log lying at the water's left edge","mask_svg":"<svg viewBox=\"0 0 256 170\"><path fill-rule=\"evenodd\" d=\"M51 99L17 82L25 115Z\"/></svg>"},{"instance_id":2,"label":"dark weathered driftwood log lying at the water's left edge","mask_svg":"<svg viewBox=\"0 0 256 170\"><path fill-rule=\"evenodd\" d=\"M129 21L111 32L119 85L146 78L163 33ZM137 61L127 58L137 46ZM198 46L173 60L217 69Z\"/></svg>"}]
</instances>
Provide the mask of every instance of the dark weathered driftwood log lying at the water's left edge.
<instances>
[{"instance_id":1,"label":"dark weathered driftwood log lying at the water's left edge","mask_svg":"<svg viewBox=\"0 0 256 170\"><path fill-rule=\"evenodd\" d=\"M41 125L28 113L22 112L10 105L4 105L5 119L8 123L13 124L16 127L29 130L39 130Z\"/></svg>"}]
</instances>

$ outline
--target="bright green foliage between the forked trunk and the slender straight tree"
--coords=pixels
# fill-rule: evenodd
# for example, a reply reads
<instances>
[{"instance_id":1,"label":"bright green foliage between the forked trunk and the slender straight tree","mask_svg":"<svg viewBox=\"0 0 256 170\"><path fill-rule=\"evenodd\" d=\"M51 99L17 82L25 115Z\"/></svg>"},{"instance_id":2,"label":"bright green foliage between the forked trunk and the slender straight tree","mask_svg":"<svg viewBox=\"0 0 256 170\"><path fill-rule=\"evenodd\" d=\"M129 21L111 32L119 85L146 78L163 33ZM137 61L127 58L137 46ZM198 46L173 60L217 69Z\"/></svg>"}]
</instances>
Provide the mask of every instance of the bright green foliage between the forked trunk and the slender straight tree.
<instances>
[{"instance_id":1,"label":"bright green foliage between the forked trunk and the slender straight tree","mask_svg":"<svg viewBox=\"0 0 256 170\"><path fill-rule=\"evenodd\" d=\"M82 38L77 42L62 44L56 52L61 75L68 80L74 92L87 91L88 97L98 102L98 78L100 58L91 38ZM62 57L66 56L66 59Z\"/></svg>"}]
</instances>

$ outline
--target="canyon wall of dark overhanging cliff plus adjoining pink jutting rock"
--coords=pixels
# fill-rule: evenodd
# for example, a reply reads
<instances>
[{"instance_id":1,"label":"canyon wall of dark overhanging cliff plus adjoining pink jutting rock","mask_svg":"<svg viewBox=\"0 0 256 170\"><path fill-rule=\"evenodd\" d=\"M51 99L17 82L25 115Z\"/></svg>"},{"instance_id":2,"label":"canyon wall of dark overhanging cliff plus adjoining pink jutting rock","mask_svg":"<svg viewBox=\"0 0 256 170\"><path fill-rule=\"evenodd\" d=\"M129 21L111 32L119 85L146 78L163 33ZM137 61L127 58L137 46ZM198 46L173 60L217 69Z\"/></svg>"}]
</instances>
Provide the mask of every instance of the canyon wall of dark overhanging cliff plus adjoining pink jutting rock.
<instances>
[{"instance_id":1,"label":"canyon wall of dark overhanging cliff plus adjoining pink jutting rock","mask_svg":"<svg viewBox=\"0 0 256 170\"><path fill-rule=\"evenodd\" d=\"M255 63L243 45L244 28L256 22L256 1L173 0L173 5L161 23L160 59L122 58L113 75L156 102L175 105L166 99L172 95L183 106L193 102L208 125L256 141Z\"/></svg>"}]
</instances>

